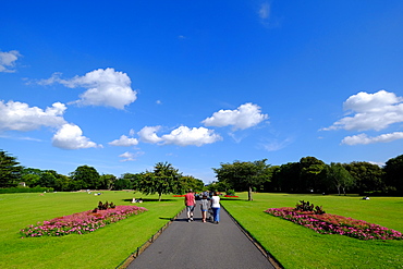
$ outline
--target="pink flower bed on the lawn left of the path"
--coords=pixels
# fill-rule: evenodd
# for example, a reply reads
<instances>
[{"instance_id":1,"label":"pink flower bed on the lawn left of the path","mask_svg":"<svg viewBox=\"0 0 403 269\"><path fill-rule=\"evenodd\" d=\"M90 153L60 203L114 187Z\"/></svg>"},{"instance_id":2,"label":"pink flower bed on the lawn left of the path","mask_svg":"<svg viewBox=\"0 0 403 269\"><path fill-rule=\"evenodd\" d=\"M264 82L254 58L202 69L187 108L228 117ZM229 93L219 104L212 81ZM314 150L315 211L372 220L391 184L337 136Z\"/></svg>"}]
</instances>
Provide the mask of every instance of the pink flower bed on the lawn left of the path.
<instances>
[{"instance_id":1,"label":"pink flower bed on the lawn left of the path","mask_svg":"<svg viewBox=\"0 0 403 269\"><path fill-rule=\"evenodd\" d=\"M107 224L144 211L147 211L147 209L136 206L117 206L115 208L98 210L96 212L88 210L38 222L37 225L29 225L26 229L22 229L21 234L26 237L38 237L90 233Z\"/></svg>"}]
</instances>

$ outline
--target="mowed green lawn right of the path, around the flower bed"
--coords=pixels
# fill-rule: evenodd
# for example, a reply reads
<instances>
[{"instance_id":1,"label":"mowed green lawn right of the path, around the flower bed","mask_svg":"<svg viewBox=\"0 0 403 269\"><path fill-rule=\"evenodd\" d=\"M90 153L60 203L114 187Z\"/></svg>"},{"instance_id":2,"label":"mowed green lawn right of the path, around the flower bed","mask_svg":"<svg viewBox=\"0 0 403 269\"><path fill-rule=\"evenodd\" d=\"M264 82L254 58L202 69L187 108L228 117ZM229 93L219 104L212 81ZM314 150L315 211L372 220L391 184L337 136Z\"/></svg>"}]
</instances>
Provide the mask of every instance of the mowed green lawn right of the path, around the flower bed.
<instances>
[{"instance_id":1,"label":"mowed green lawn right of the path, around the flower bed","mask_svg":"<svg viewBox=\"0 0 403 269\"><path fill-rule=\"evenodd\" d=\"M285 268L403 268L403 241L361 241L318 234L264 212L294 207L300 200L323 206L328 213L351 217L403 232L403 197L247 194L221 199L225 209Z\"/></svg>"}]
</instances>

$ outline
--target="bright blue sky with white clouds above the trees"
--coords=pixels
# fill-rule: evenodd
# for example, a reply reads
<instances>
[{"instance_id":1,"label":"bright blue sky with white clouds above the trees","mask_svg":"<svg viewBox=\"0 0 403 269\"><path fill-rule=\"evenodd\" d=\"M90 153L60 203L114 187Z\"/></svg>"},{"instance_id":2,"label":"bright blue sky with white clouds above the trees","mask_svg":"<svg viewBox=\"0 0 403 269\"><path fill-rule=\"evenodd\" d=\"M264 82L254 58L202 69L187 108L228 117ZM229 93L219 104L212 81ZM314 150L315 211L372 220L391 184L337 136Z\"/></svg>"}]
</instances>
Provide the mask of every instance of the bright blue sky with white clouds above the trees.
<instances>
[{"instance_id":1,"label":"bright blue sky with white clouds above the trees","mask_svg":"<svg viewBox=\"0 0 403 269\"><path fill-rule=\"evenodd\" d=\"M402 1L3 1L0 149L62 174L403 148Z\"/></svg>"}]
</instances>

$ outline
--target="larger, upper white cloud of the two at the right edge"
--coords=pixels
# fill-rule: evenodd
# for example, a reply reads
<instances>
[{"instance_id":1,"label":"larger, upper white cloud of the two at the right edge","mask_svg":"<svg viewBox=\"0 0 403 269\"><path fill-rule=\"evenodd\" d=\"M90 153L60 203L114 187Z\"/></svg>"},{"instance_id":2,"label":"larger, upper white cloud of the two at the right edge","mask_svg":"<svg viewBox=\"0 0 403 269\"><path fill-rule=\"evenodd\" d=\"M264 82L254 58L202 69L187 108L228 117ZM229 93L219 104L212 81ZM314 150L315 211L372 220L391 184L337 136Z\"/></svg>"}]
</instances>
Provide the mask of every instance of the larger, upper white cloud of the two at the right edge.
<instances>
[{"instance_id":1,"label":"larger, upper white cloud of the two at the right edge","mask_svg":"<svg viewBox=\"0 0 403 269\"><path fill-rule=\"evenodd\" d=\"M334 122L329 130L380 131L393 123L403 122L403 98L393 93L379 90L375 94L358 93L344 102L352 117Z\"/></svg>"}]
</instances>

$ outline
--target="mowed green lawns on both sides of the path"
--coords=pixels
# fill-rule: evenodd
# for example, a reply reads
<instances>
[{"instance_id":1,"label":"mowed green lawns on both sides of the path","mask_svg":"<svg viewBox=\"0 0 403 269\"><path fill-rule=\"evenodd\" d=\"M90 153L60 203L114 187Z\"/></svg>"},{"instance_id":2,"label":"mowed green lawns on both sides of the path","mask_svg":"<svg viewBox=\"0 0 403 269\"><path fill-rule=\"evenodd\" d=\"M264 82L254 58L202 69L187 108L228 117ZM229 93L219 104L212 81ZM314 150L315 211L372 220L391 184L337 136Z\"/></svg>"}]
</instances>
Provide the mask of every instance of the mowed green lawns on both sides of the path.
<instances>
[{"instance_id":1,"label":"mowed green lawns on both sides of the path","mask_svg":"<svg viewBox=\"0 0 403 269\"><path fill-rule=\"evenodd\" d=\"M342 235L318 234L265 213L273 207L293 207L309 200L329 213L361 219L403 231L403 198L247 194L222 199L222 205L285 268L403 268L403 241L359 241ZM85 235L21 239L20 229L38 221L95 208L99 200L133 205L138 194L105 192L0 195L0 268L115 268L183 209L183 198L143 196L136 204L147 212L130 217Z\"/></svg>"}]
</instances>

